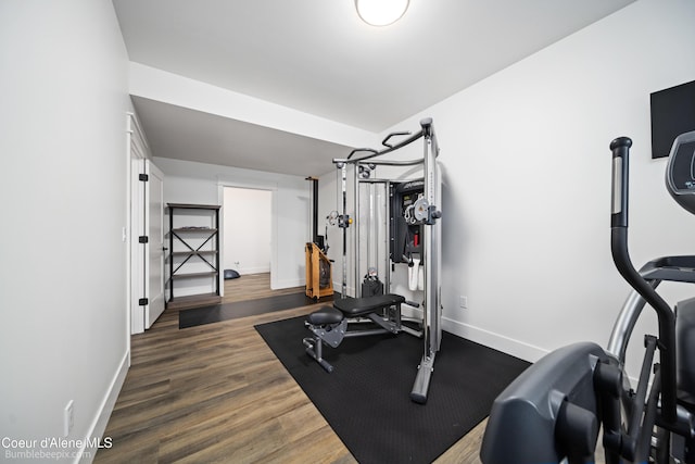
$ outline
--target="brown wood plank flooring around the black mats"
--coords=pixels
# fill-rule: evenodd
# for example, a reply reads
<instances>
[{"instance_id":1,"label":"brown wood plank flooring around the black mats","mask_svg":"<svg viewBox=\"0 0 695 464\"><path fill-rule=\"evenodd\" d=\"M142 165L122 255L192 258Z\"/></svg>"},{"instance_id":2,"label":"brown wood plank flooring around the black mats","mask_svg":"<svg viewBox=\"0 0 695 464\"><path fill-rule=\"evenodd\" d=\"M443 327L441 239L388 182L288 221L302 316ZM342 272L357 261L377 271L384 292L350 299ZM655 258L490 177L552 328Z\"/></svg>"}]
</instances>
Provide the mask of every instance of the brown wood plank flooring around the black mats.
<instances>
[{"instance_id":1,"label":"brown wood plank flooring around the black mats","mask_svg":"<svg viewBox=\"0 0 695 464\"><path fill-rule=\"evenodd\" d=\"M225 298L277 294L267 275L245 277L228 280ZM94 462L356 462L253 328L315 309L182 330L178 311L167 309L150 330L132 337L131 366L104 434L113 447L100 450ZM437 463L480 463L483 430L484 422Z\"/></svg>"}]
</instances>

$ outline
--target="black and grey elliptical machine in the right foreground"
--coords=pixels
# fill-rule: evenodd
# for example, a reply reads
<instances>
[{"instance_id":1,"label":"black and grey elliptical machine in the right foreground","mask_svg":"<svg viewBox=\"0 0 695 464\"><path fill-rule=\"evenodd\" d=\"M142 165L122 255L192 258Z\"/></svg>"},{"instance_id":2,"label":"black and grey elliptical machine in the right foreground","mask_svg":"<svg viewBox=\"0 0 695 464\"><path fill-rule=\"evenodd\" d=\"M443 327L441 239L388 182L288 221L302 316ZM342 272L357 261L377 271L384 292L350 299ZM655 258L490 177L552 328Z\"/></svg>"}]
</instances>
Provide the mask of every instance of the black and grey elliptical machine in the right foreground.
<instances>
[{"instance_id":1,"label":"black and grey elliptical machine in the right foreground","mask_svg":"<svg viewBox=\"0 0 695 464\"><path fill-rule=\"evenodd\" d=\"M574 343L551 352L495 400L483 437L484 464L594 462L599 428L606 464L695 463L695 299L671 310L656 292L664 280L695 283L695 256L666 256L639 272L628 253L628 161L632 141L612 152L611 252L633 288L606 350ZM675 138L666 172L673 199L695 214L695 131ZM635 389L624 372L626 351L645 303L658 337L644 338ZM658 350L658 362L655 354Z\"/></svg>"}]
</instances>

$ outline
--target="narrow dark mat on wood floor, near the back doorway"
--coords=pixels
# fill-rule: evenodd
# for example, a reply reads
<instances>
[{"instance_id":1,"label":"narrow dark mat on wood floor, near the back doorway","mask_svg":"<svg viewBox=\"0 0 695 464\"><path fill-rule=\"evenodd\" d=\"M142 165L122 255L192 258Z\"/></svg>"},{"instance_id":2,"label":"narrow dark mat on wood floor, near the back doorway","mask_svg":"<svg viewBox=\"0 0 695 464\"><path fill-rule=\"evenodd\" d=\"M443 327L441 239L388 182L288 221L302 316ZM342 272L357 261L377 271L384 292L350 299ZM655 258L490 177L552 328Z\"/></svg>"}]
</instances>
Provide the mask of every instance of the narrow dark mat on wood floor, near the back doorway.
<instances>
[{"instance_id":1,"label":"narrow dark mat on wood floor, near the back doorway","mask_svg":"<svg viewBox=\"0 0 695 464\"><path fill-rule=\"evenodd\" d=\"M178 328L181 329L203 324L218 323L220 321L254 316L256 314L305 306L307 304L325 303L326 301L330 304L332 297L323 298L317 302L308 298L306 293L301 292L260 298L256 300L237 301L233 303L222 303L192 310L181 310L178 313Z\"/></svg>"}]
</instances>

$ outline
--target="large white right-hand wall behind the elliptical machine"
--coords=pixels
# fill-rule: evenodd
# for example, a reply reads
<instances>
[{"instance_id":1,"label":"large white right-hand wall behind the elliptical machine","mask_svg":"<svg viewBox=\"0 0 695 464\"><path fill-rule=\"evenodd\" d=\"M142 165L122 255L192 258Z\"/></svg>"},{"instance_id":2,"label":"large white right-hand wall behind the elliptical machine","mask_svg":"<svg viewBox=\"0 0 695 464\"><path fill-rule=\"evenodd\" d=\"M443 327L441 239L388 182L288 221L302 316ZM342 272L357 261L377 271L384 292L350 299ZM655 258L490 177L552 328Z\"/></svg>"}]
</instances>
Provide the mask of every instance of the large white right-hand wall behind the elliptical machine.
<instances>
[{"instance_id":1,"label":"large white right-hand wall behind the elliptical machine","mask_svg":"<svg viewBox=\"0 0 695 464\"><path fill-rule=\"evenodd\" d=\"M690 0L637 1L393 127L431 116L442 149L447 330L531 361L606 344L629 291L609 250L618 136L634 140L634 262L692 252L695 221L665 190L666 160L650 159L649 93L695 79L694 23ZM321 181L336 190L333 175Z\"/></svg>"}]
</instances>

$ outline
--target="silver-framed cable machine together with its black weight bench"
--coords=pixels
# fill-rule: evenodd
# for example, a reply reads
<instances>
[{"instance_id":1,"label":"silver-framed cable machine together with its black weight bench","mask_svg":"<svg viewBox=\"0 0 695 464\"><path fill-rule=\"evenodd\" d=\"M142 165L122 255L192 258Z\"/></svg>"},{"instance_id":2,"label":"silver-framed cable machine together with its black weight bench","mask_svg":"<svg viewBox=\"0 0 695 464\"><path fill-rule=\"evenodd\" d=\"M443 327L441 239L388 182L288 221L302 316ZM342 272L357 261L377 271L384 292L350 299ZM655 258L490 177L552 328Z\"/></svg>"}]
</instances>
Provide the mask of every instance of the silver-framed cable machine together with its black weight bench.
<instances>
[{"instance_id":1,"label":"silver-framed cable machine together with its black weight bench","mask_svg":"<svg viewBox=\"0 0 695 464\"><path fill-rule=\"evenodd\" d=\"M406 137L397 143L391 143L393 137ZM424 154L410 160L393 160L384 156L409 146L418 139L424 139ZM410 399L417 403L427 401L427 393L430 385L432 371L434 369L434 358L441 342L441 212L438 209L441 201L441 179L437 163L439 147L434 135L434 127L431 118L420 122L420 130L417 134L393 133L383 141L383 149L356 149L346 159L336 159L333 163L339 170L340 176L340 201L342 201L342 214L338 216L338 226L342 229L343 250L342 268L343 279L341 298L336 300L333 306L324 306L312 313L307 317L307 328L313 337L304 339L306 352L315 359L327 372L332 372L333 366L323 358L323 344L337 348L340 342L348 337L357 337L371 334L406 331L424 339L425 352L418 365L417 376L410 392ZM378 166L388 170L396 170L401 177L404 172L407 175L414 173L421 174L415 180L390 180L371 178ZM388 167L387 167L388 166ZM348 213L348 168L352 167L354 181L352 184L354 193L355 217L357 218L356 233L354 239L354 288L358 292L357 298L348 297L348 248L350 244L348 229L353 226L353 217ZM369 206L368 214L363 216L359 206L361 191L368 191ZM381 192L381 193L380 193ZM386 193L383 193L386 192ZM388 196L388 199L386 197ZM381 200L379 200L381 199ZM383 204L387 214L379 216L376 210L377 203ZM384 218L389 217L389 226L381 227ZM367 227L375 227L376 237L372 234L365 234L362 223ZM361 247L362 236L367 237L367 265L366 278L371 278L372 274L383 273L386 276L383 294L381 292L364 294L358 291L357 283L363 275L363 247ZM380 246L381 243L381 246ZM387 252L388 250L388 252ZM379 263L380 258L383 262ZM390 261L390 263L389 263ZM403 303L414 308L419 308L420 303L407 301L401 294L392 293L391 290L391 266L404 263L415 267L415 262L419 261L415 269L415 285L408 286L415 290L417 297L421 298L422 318L418 319L420 330L402 324L401 305ZM421 264L421 265L420 265ZM413 274L413 272L410 272ZM349 323L367 321L375 323L376 329L348 330Z\"/></svg>"}]
</instances>

